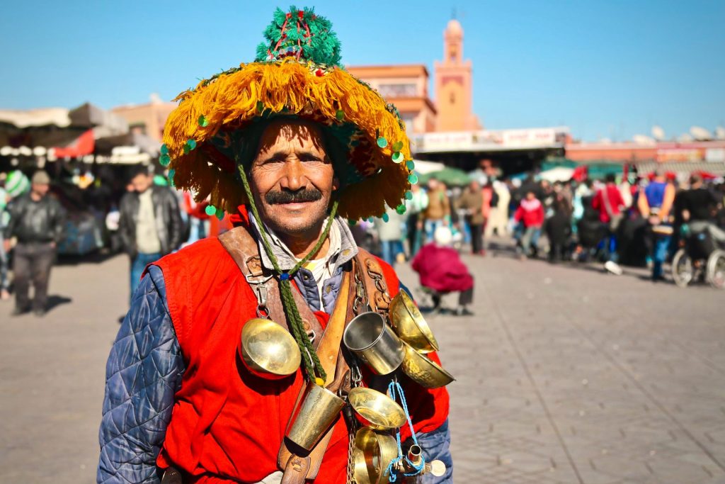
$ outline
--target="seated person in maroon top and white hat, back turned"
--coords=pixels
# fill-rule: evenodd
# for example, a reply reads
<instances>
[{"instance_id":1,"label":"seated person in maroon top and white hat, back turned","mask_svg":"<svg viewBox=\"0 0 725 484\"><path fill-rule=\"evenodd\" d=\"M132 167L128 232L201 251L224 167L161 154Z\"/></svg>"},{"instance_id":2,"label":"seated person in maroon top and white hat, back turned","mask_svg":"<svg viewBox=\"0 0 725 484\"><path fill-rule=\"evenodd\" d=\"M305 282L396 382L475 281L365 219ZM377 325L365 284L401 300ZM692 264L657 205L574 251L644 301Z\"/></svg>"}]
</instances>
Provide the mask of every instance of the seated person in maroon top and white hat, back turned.
<instances>
[{"instance_id":1,"label":"seated person in maroon top and white hat, back turned","mask_svg":"<svg viewBox=\"0 0 725 484\"><path fill-rule=\"evenodd\" d=\"M423 245L413 258L413 271L421 277L421 285L434 292L434 311L439 310L442 295L460 292L456 314L473 316L468 309L473 302L473 276L451 247L452 242L453 234L448 227L436 229L434 242Z\"/></svg>"}]
</instances>

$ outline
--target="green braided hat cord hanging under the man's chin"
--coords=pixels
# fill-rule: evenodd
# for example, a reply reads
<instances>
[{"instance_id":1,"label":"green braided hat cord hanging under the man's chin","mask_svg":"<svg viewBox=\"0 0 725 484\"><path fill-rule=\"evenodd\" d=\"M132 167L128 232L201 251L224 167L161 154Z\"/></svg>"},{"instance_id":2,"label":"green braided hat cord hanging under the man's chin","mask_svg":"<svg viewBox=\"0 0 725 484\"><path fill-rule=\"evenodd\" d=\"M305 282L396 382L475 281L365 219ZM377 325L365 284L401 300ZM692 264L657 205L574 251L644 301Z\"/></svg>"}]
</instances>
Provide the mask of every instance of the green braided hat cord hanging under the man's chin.
<instances>
[{"instance_id":1,"label":"green braided hat cord hanging under the man's chin","mask_svg":"<svg viewBox=\"0 0 725 484\"><path fill-rule=\"evenodd\" d=\"M252 215L254 216L254 221L257 222L257 226L259 226L260 229L262 246L265 247L265 252L267 253L270 261L272 262L272 266L274 266L277 274L282 274L282 269L279 266L277 258L272 250L272 246L270 245L269 239L267 238L267 233L264 230L264 225L262 224L260 213L257 210L257 205L254 204L254 197L252 197L252 189L249 188L247 173L244 173L244 167L241 165L239 165L239 174L241 176L241 184L244 186L244 192L247 193L249 207L252 208ZM332 210L330 211L327 226L325 227L325 230L320 236L320 239L315 244L315 247L312 247L310 253L307 253L307 255L305 255L305 257L302 258L301 261L299 261L297 264L295 264L293 268L291 268L291 270L287 273L289 274L289 276L296 273L300 267L305 265L305 263L310 260L312 255L318 253L320 247L322 247L323 243L325 243L325 239L327 239L327 236L330 233L332 223L334 223L334 218L337 213L337 205L338 202L337 200L335 200L332 205ZM315 348L312 346L312 341L310 341L310 337L305 331L304 324L302 323L302 316L299 315L299 309L297 309L297 303L294 302L294 295L292 294L292 284L290 281L291 279L280 279L280 295L282 297L282 306L284 308L284 312L287 316L287 320L289 321L289 329L291 329L292 336L297 342L297 346L299 346L299 350L303 356L302 363L305 365L305 374L307 375L308 380L314 380L316 375L320 377L323 381L326 381L327 374L323 369L322 364L320 364L320 358L318 357Z\"/></svg>"}]
</instances>

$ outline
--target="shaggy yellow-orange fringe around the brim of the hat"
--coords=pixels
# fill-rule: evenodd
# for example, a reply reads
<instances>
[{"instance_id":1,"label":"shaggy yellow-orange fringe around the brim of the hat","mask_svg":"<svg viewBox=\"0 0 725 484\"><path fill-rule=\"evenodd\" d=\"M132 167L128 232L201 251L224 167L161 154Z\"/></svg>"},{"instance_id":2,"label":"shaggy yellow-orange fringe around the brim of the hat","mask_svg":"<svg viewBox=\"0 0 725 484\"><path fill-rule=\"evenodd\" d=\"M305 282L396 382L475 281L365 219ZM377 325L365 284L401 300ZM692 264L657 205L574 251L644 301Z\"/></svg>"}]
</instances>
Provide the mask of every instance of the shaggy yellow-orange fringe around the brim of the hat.
<instances>
[{"instance_id":1,"label":"shaggy yellow-orange fringe around the brim of the hat","mask_svg":"<svg viewBox=\"0 0 725 484\"><path fill-rule=\"evenodd\" d=\"M368 167L362 181L341 192L341 216L351 220L382 216L385 204L394 208L402 202L410 188L410 171L405 161L393 162L392 147L401 142L402 159L410 160L410 141L402 122L387 109L378 92L338 67L323 71L297 60L240 67L212 81L202 81L193 91L176 98L181 103L169 115L164 129L175 186L194 191L197 201L210 196L212 205L231 213L246 202L235 173L223 171L200 148L223 127L244 129L244 123L262 114L261 107L265 115L284 111L328 124L353 123L368 138L365 146L369 147L355 149L354 155L351 152L349 163L372 164L373 168ZM336 117L339 110L344 115L342 121ZM202 116L207 126L200 125ZM388 141L385 148L378 147L378 136ZM196 148L185 153L188 140L196 141Z\"/></svg>"}]
</instances>

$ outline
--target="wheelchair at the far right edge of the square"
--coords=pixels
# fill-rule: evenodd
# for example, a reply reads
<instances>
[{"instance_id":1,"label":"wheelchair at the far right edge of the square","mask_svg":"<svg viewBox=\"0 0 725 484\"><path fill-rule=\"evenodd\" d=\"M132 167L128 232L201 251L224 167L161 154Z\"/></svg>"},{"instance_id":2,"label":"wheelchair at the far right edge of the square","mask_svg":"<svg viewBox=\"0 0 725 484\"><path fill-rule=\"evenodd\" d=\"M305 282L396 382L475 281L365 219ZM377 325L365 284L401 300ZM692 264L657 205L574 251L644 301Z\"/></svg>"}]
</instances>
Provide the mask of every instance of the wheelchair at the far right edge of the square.
<instances>
[{"instance_id":1,"label":"wheelchair at the far right edge of the square","mask_svg":"<svg viewBox=\"0 0 725 484\"><path fill-rule=\"evenodd\" d=\"M683 225L680 248L672 258L672 279L679 287L690 282L707 282L725 288L725 247L713 240L708 229L690 231Z\"/></svg>"}]
</instances>

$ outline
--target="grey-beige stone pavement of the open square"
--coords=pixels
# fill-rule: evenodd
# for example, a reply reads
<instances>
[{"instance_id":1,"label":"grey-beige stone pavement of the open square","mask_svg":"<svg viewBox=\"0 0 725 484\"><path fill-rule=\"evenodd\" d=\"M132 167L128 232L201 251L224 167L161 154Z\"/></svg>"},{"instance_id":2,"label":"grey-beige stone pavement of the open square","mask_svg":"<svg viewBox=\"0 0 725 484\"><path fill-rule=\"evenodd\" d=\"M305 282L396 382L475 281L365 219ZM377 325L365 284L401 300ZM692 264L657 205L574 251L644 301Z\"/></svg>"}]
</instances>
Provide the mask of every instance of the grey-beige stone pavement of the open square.
<instances>
[{"instance_id":1,"label":"grey-beige stone pavement of the open square","mask_svg":"<svg viewBox=\"0 0 725 484\"><path fill-rule=\"evenodd\" d=\"M725 292L464 259L476 316L429 319L457 377L456 483L725 483ZM45 319L0 305L0 483L94 482L127 279L123 257L59 266Z\"/></svg>"}]
</instances>

